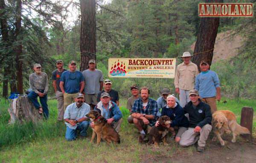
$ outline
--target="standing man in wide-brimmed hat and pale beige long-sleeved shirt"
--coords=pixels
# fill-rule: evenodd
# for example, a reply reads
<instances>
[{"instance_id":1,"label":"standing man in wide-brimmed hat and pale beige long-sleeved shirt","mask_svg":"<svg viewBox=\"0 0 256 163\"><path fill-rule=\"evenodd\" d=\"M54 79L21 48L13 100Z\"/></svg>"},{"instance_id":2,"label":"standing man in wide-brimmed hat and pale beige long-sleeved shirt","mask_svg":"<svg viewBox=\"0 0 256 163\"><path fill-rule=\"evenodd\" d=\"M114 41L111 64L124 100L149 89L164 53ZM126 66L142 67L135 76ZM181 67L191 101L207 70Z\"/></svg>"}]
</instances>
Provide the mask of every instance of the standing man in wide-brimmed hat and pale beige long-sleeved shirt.
<instances>
[{"instance_id":1,"label":"standing man in wide-brimmed hat and pale beige long-sleeved shirt","mask_svg":"<svg viewBox=\"0 0 256 163\"><path fill-rule=\"evenodd\" d=\"M190 61L191 57L189 52L184 52L181 56L183 62L177 66L175 73L175 92L180 95L181 107L185 107L190 101L189 90L194 89L195 77L198 75L198 67Z\"/></svg>"}]
</instances>

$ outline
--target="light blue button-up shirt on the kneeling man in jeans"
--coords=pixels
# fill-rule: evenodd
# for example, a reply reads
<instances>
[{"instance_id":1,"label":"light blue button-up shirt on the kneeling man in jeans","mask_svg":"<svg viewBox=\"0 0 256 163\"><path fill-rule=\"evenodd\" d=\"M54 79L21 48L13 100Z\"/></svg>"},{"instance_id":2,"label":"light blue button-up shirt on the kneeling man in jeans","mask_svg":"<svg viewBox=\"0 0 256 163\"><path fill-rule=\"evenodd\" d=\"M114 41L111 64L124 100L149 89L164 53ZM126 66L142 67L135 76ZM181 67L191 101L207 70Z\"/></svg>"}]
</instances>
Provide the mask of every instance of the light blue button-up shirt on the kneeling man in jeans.
<instances>
[{"instance_id":1,"label":"light blue button-up shirt on the kneeling man in jeans","mask_svg":"<svg viewBox=\"0 0 256 163\"><path fill-rule=\"evenodd\" d=\"M90 112L90 105L83 103L81 107L76 106L76 102L73 104L70 104L67 106L65 113L64 113L64 119L73 119L73 120L79 120L80 118L85 117ZM72 126L71 124L65 122L65 124L70 129L76 129L77 124L75 126Z\"/></svg>"}]
</instances>

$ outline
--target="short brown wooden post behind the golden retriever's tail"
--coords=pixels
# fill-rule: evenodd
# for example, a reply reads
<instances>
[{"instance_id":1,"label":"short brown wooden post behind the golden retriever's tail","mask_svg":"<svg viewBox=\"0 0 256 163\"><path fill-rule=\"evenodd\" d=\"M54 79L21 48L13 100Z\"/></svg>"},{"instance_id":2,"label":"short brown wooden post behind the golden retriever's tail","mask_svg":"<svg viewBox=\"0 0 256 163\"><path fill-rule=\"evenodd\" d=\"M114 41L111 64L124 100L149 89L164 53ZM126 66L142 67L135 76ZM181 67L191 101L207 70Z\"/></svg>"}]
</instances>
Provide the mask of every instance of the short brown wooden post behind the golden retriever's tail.
<instances>
[{"instance_id":1,"label":"short brown wooden post behind the golden retriever's tail","mask_svg":"<svg viewBox=\"0 0 256 163\"><path fill-rule=\"evenodd\" d=\"M253 132L253 108L243 107L241 112L241 126L246 127L250 131L250 135L242 135L243 138L252 140Z\"/></svg>"}]
</instances>

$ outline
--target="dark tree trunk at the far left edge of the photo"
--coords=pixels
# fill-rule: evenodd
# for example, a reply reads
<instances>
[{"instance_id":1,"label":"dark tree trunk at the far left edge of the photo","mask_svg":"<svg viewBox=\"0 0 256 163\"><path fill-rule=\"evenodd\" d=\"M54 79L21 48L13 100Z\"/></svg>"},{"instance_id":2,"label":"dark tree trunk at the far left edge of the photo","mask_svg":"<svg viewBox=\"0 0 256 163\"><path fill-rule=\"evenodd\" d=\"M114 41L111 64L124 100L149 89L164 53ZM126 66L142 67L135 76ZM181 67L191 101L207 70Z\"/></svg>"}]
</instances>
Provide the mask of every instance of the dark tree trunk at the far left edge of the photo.
<instances>
[{"instance_id":1,"label":"dark tree trunk at the far left edge of the photo","mask_svg":"<svg viewBox=\"0 0 256 163\"><path fill-rule=\"evenodd\" d=\"M6 4L4 0L0 0L0 24L1 24L1 33L2 33L2 39L3 39L3 49L7 51L8 49L8 28L7 28L7 19L5 17L6 14ZM8 54L7 54L8 55ZM6 56L6 53L3 54L3 58L1 58L2 64L4 65L4 73L3 73L3 97L7 98L8 97L8 74L9 74L9 64L8 64L8 59L6 59L4 56Z\"/></svg>"}]
</instances>

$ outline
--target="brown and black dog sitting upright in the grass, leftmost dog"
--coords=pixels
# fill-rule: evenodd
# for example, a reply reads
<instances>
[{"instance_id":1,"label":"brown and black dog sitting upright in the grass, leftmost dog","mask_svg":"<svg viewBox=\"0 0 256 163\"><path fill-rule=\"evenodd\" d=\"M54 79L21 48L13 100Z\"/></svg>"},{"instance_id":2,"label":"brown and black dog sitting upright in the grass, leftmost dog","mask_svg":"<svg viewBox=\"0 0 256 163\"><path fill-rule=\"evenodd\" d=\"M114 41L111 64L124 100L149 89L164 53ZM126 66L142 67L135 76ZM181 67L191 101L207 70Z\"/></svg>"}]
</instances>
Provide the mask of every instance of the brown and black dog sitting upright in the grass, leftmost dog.
<instances>
[{"instance_id":1,"label":"brown and black dog sitting upright in the grass, leftmost dog","mask_svg":"<svg viewBox=\"0 0 256 163\"><path fill-rule=\"evenodd\" d=\"M120 136L113 127L107 123L107 120L96 110L90 111L86 117L94 124L93 135L91 143L97 135L97 144L99 145L101 138L107 141L107 143L120 143Z\"/></svg>"}]
</instances>

